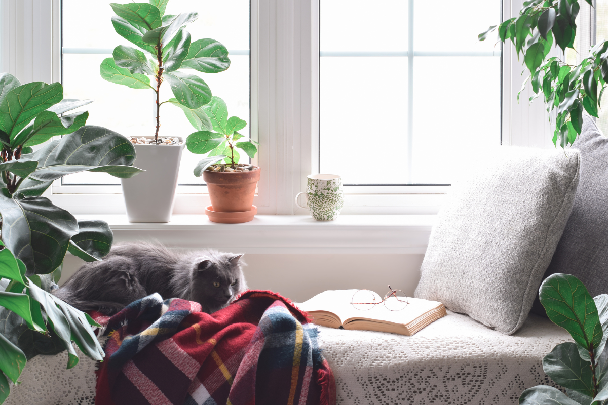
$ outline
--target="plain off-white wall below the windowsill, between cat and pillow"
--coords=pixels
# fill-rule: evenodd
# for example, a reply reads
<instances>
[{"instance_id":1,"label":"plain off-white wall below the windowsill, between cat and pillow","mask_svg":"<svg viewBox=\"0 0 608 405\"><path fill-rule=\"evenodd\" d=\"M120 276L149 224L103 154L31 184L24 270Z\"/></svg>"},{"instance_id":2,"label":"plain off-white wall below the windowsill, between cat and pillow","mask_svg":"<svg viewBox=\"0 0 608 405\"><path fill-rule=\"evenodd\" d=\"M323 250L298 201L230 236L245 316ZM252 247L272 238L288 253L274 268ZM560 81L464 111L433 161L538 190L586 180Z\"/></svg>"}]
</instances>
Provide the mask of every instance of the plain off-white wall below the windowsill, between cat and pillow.
<instances>
[{"instance_id":1,"label":"plain off-white wall below the windowsill, between cat and pillow","mask_svg":"<svg viewBox=\"0 0 608 405\"><path fill-rule=\"evenodd\" d=\"M420 279L423 254L246 254L245 276L250 288L272 290L295 302L325 290L367 288L384 294L391 287L408 296ZM60 284L83 261L71 254L64 260Z\"/></svg>"}]
</instances>

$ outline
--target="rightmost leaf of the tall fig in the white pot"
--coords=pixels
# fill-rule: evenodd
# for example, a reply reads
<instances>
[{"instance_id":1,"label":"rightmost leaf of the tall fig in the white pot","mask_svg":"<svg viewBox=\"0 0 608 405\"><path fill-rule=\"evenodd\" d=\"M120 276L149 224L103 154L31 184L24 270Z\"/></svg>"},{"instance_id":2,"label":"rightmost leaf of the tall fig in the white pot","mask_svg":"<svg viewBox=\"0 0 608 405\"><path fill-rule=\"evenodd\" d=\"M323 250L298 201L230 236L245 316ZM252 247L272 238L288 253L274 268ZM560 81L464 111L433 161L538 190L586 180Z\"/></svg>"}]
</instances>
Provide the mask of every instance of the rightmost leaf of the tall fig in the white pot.
<instances>
[{"instance_id":1,"label":"rightmost leaf of the tall fig in the white pot","mask_svg":"<svg viewBox=\"0 0 608 405\"><path fill-rule=\"evenodd\" d=\"M218 73L230 67L228 50L215 39L199 39L190 45L182 67L203 73Z\"/></svg>"}]
</instances>

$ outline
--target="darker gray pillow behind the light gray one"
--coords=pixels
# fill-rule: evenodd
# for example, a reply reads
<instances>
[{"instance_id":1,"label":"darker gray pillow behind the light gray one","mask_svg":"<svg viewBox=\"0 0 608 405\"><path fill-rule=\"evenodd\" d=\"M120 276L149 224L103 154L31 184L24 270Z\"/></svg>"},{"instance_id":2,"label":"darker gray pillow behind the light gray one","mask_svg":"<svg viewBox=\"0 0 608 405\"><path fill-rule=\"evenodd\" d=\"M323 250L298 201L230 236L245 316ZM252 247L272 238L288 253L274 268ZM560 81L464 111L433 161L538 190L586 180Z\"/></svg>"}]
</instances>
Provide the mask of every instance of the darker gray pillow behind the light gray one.
<instances>
[{"instance_id":1,"label":"darker gray pillow behind the light gray one","mask_svg":"<svg viewBox=\"0 0 608 405\"><path fill-rule=\"evenodd\" d=\"M608 138L584 115L581 135L572 148L581 152L581 179L572 214L543 278L573 274L595 297L608 293ZM547 316L538 295L532 311Z\"/></svg>"}]
</instances>

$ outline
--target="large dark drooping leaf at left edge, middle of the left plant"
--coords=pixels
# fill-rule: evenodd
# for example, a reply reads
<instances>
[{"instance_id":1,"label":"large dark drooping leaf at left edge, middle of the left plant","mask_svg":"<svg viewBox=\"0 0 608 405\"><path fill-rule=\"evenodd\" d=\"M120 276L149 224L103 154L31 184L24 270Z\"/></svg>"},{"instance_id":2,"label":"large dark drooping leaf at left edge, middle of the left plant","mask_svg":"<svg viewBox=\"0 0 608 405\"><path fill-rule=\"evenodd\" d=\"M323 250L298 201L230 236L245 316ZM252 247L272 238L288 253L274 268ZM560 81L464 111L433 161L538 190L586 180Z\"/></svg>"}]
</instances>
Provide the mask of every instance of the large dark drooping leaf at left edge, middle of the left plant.
<instances>
[{"instance_id":1,"label":"large dark drooping leaf at left edge, middle of the left plant","mask_svg":"<svg viewBox=\"0 0 608 405\"><path fill-rule=\"evenodd\" d=\"M2 240L24 262L27 274L48 274L59 267L78 233L74 216L44 197L0 197L0 216Z\"/></svg>"}]
</instances>

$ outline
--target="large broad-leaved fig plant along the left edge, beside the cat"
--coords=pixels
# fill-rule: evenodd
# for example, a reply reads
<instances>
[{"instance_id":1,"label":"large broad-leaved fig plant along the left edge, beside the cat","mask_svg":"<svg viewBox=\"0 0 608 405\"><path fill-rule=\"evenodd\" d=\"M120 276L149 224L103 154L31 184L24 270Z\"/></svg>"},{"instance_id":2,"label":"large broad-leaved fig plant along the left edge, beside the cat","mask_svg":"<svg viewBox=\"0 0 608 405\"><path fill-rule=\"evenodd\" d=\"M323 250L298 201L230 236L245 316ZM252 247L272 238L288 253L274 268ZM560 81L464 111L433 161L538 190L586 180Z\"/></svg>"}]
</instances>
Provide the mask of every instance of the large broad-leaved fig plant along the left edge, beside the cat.
<instances>
[{"instance_id":1,"label":"large broad-leaved fig plant along the left edge, beside the cat","mask_svg":"<svg viewBox=\"0 0 608 405\"><path fill-rule=\"evenodd\" d=\"M94 261L108 254L112 245L107 223L76 220L42 197L44 191L71 173L128 178L142 171L132 166L135 150L126 137L86 126L86 111L65 114L91 101L64 100L60 83L21 84L8 73L0 74L0 313L5 323L0 330L0 370L13 383L27 357L35 355L31 347L21 345L24 332L19 324L63 345L69 353L68 368L78 362L72 341L85 355L103 358L89 326L97 324L41 288L50 285L51 277L58 280L67 251ZM58 135L63 137L49 141ZM45 142L32 151L32 146ZM9 322L12 315L17 322ZM36 339L28 336L30 343ZM0 373L0 403L7 395L9 384Z\"/></svg>"}]
</instances>

